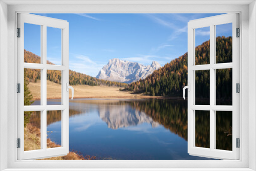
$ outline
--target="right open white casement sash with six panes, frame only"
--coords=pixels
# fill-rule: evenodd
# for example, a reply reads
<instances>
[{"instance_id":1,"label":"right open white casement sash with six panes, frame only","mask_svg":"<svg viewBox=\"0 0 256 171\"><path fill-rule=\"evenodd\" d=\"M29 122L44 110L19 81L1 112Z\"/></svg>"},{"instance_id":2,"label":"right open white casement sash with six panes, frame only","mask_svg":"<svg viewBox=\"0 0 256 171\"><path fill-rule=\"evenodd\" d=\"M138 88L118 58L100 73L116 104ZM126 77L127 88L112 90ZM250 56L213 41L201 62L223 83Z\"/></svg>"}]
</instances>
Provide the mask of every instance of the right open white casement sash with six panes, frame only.
<instances>
[{"instance_id":1,"label":"right open white casement sash with six panes, frame only","mask_svg":"<svg viewBox=\"0 0 256 171\"><path fill-rule=\"evenodd\" d=\"M216 63L216 26L232 24L232 62ZM210 29L210 63L196 65L196 29L209 27ZM236 29L239 28L239 14L230 13L218 16L190 20L188 22L188 153L195 156L211 156L217 159L239 159L239 148L236 147L236 138L239 138L239 94L236 93L236 83L239 83L239 39ZM216 105L216 70L232 68L232 105ZM209 71L210 103L209 105L196 104L196 71ZM197 147L196 142L196 111L209 111L209 148ZM216 111L232 112L232 151L216 149Z\"/></svg>"}]
</instances>

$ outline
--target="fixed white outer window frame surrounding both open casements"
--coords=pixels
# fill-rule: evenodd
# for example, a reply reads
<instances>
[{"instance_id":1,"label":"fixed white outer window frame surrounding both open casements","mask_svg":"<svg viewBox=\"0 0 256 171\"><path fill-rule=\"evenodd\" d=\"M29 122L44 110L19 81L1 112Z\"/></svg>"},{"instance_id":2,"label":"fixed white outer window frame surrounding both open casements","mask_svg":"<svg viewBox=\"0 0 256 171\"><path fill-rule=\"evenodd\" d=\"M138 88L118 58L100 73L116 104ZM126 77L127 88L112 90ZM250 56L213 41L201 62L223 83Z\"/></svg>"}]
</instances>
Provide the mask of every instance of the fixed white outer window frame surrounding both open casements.
<instances>
[{"instance_id":1,"label":"fixed white outer window frame surrounding both open casements","mask_svg":"<svg viewBox=\"0 0 256 171\"><path fill-rule=\"evenodd\" d=\"M5 1L8 3L8 1ZM19 1L23 2L23 1ZM208 3L210 2L210 3ZM8 75L3 73L2 68L1 71L1 80L8 80L8 116L3 116L1 113L1 119L4 118L5 122L8 120L8 124L3 123L1 120L1 162L4 164L7 161L7 164L4 164L4 168L9 168L8 170L18 170L18 168L32 168L31 170L36 170L36 168L46 168L46 170L54 170L50 168L59 168L62 170L69 170L66 168L73 168L70 170L74 170L74 168L101 168L99 170L104 170L103 168L113 168L112 170L121 170L120 168L130 168L131 170L142 170L143 168L154 168L151 170L172 170L172 168L183 168L184 170L212 170L210 168L215 168L216 170L230 170L234 168L238 168L237 170L251 170L256 169L255 164L255 124L256 118L254 116L256 112L255 102L256 102L256 90L254 90L254 85L256 83L255 74L255 2L253 1L208 1L203 2L204 5L200 5L202 2L198 1L190 1L189 4L186 1L172 1L172 2L145 2L145 1L137 1L137 2L126 2L126 5L123 5L124 2L113 2L106 1L103 2L94 2L92 5L90 2L84 2L87 4L83 5L75 5L77 1L74 1L74 5L50 5L54 4L50 1L40 2L45 5L36 5L34 2L23 2L27 3L27 5L9 5L8 13L4 9L4 14L8 14L8 61L3 59L3 54L1 55L1 60L3 60L6 65L8 64ZM11 2L10 3L18 3ZM33 5L29 5L32 3ZM55 2L56 3L56 2ZM59 2L57 2L59 3ZM64 3L64 2L63 2ZM71 3L71 2L70 2ZM79 3L79 2L78 2ZM80 2L81 3L81 2ZM92 3L92 2L91 2ZM116 3L116 4L115 4ZM205 5L207 4L208 5ZM219 3L219 4L218 4ZM232 3L236 3L233 5ZM251 3L250 5L248 5ZM72 3L71 3L72 4ZM144 4L144 5L141 5ZM180 5L177 5L180 4ZM2 12L2 6L6 8L6 5L1 2L0 12ZM248 13L249 11L249 13ZM16 28L16 14L18 12L30 12L30 13L227 13L227 12L238 12L240 13L240 29L241 29L241 39L240 39L240 160L224 160L224 161L182 161L182 160L173 160L173 161L17 161L17 153L16 153L16 37L15 37L15 28ZM3 15L0 16L0 22L2 25ZM6 26L6 22L4 23ZM1 26L3 27L3 25ZM0 28L1 29L1 28ZM5 30L0 30L0 35L3 36L6 33ZM248 33L251 35L248 36ZM5 36L4 36L5 37ZM2 37L1 37L2 38ZM7 38L7 37L6 37ZM6 41L7 41L6 40ZM1 53L3 51L4 40L0 40L2 44L0 44ZM250 42L250 44L249 44ZM248 62L250 60L250 62ZM0 64L2 66L2 64ZM1 67L0 66L0 67ZM251 67L249 73L249 67ZM253 77L254 75L254 77ZM251 76L249 80L248 77ZM8 78L8 79L7 79ZM249 82L251 84L249 84ZM3 88L6 84L2 84L0 82L0 93L4 93ZM3 85L3 86L2 86ZM250 91L249 88L253 89ZM7 94L6 94L7 95ZM4 97L1 94L1 100L4 100ZM250 99L250 101L249 101ZM0 102L1 108L5 103ZM248 105L250 104L250 106ZM2 110L2 109L1 109ZM7 119L8 117L8 119ZM3 126L3 127L2 127ZM6 131L7 130L7 131ZM7 133L5 133L7 132ZM250 137L248 136L248 132ZM2 138L6 138L7 141L4 141ZM7 145L8 149L4 149L3 145ZM250 148L250 150L249 150ZM2 153L3 152L3 153ZM8 156L7 160L3 159L4 155ZM13 168L13 169L12 169ZM14 169L17 168L17 169ZM62 168L62 169L61 169ZM119 169L118 169L119 168ZM230 168L230 169L228 169ZM26 169L27 170L27 169ZM86 169L84 169L86 170ZM125 169L123 169L125 170ZM127 170L127 169L126 169ZM182 169L180 169L182 170Z\"/></svg>"}]
</instances>

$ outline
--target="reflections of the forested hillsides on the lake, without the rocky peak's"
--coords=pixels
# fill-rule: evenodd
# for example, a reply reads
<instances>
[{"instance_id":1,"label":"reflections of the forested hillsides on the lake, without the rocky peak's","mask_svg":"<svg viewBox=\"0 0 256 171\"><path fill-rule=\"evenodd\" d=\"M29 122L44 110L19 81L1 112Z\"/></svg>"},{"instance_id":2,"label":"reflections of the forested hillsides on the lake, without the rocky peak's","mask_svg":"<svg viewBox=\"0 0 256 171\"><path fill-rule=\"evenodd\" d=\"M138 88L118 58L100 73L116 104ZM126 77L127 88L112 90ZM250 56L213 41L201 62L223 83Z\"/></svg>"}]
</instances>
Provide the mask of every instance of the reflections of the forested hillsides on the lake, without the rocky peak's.
<instances>
[{"instance_id":1,"label":"reflections of the forested hillsides on the lake, without the rocky peak's","mask_svg":"<svg viewBox=\"0 0 256 171\"><path fill-rule=\"evenodd\" d=\"M98 104L94 100L94 104ZM185 100L170 100L170 99L146 99L146 100L103 100L104 104L114 105L129 105L130 108L135 109L139 113L146 114L154 122L161 124L165 129L177 134L187 141L187 101ZM87 103L87 100L74 101L78 103ZM92 100L90 101L92 103ZM102 99L101 99L102 103ZM72 107L72 106L71 106ZM70 117L84 114L87 111L79 108L70 109ZM198 111L197 111L198 112ZM36 113L36 112L34 112ZM49 111L47 117L47 125L61 120L61 111ZM200 112L199 112L200 113ZM30 123L33 125L40 125L40 115L32 113ZM103 121L109 120L112 122L113 117L111 113ZM114 118L115 119L115 118ZM131 122L131 121L130 121ZM136 123L138 124L138 123ZM209 147L209 117L196 115L196 146ZM134 125L134 123L133 123ZM118 127L110 127L111 129L118 129ZM232 112L217 112L216 113L216 148L232 151Z\"/></svg>"}]
</instances>

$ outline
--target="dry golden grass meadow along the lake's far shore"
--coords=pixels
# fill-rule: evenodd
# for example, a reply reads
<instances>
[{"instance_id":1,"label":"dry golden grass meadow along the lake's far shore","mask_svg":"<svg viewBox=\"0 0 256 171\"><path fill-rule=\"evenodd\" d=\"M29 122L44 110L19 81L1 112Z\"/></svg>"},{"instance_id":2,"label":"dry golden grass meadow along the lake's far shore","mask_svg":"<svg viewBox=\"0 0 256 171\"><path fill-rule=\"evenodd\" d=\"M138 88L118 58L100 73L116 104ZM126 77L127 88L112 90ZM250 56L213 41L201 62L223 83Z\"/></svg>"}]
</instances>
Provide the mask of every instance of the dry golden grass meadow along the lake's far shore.
<instances>
[{"instance_id":1,"label":"dry golden grass meadow along the lake's far shore","mask_svg":"<svg viewBox=\"0 0 256 171\"><path fill-rule=\"evenodd\" d=\"M33 94L34 100L40 99L40 80L36 83L30 82L29 90ZM130 92L119 91L118 87L106 86L86 86L77 85L74 88L74 98L147 98L150 96L143 96L142 94L131 94ZM71 98L71 91L69 91ZM61 98L61 84L54 83L47 80L47 99ZM152 97L150 97L152 98Z\"/></svg>"}]
</instances>

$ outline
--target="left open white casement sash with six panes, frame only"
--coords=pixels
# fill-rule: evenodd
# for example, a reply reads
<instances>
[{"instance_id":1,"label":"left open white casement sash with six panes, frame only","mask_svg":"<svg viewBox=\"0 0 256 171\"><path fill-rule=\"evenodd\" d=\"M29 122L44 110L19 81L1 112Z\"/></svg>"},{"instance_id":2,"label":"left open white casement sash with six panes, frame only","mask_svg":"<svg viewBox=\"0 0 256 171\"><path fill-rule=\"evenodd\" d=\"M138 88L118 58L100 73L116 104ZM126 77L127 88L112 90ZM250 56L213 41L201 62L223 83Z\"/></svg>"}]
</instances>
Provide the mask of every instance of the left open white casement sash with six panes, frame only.
<instances>
[{"instance_id":1,"label":"left open white casement sash with six panes, frame only","mask_svg":"<svg viewBox=\"0 0 256 171\"><path fill-rule=\"evenodd\" d=\"M24 24L40 26L41 30L41 62L24 62ZM47 64L47 27L61 30L61 65ZM20 37L17 38L17 83L20 83L20 93L17 94L17 138L20 148L17 148L17 159L42 159L65 156L69 153L69 23L66 20L55 19L33 14L17 14L17 28ZM41 73L40 105L24 106L24 69L39 69ZM47 105L47 70L61 71L61 105ZM24 151L24 112L39 111L41 127L41 148ZM61 146L47 148L47 111L61 111Z\"/></svg>"}]
</instances>

